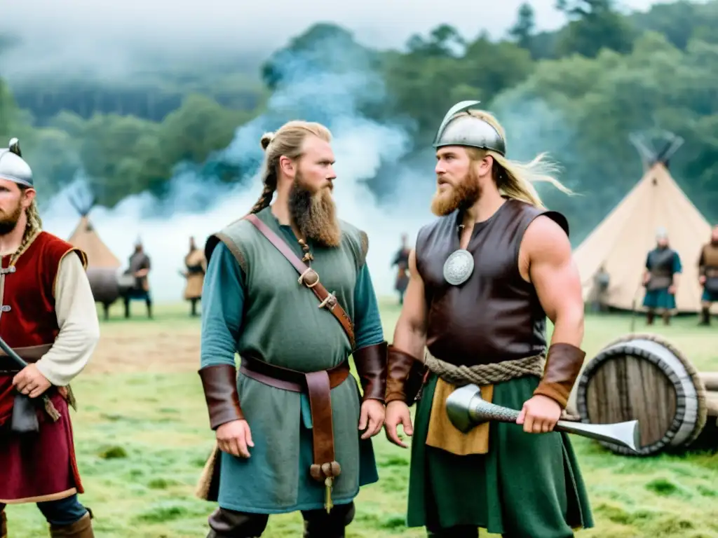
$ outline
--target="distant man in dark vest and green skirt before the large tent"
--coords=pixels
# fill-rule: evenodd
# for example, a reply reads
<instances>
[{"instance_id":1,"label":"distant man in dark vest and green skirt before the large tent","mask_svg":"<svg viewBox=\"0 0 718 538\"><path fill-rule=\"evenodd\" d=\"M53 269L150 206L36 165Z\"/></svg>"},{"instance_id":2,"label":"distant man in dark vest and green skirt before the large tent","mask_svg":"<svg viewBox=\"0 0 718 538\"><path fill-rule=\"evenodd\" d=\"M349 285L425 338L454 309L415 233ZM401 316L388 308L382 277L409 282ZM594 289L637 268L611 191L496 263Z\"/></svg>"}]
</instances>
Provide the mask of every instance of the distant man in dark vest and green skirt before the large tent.
<instances>
[{"instance_id":1,"label":"distant man in dark vest and green skirt before the large tent","mask_svg":"<svg viewBox=\"0 0 718 538\"><path fill-rule=\"evenodd\" d=\"M656 312L663 315L663 323L668 325L671 311L676 308L676 286L681 273L681 258L668 246L668 234L663 228L656 233L656 248L645 259L643 285L645 297L643 306L648 309L646 321L653 324Z\"/></svg>"}]
</instances>

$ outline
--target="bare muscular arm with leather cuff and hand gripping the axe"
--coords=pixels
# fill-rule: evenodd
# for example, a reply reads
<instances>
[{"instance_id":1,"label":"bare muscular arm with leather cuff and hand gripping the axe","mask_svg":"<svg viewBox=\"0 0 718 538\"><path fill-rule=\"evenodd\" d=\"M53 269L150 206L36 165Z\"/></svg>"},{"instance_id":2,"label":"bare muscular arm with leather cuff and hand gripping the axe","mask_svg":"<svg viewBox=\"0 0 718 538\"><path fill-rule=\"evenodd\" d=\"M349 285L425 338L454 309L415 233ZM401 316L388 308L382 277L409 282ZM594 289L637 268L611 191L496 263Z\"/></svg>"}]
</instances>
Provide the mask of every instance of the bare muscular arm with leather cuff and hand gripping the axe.
<instances>
[{"instance_id":1,"label":"bare muscular arm with leather cuff and hand gripping the axe","mask_svg":"<svg viewBox=\"0 0 718 538\"><path fill-rule=\"evenodd\" d=\"M524 430L550 431L569 400L586 354L581 278L564 230L549 217L538 217L521 244L521 275L533 283L546 316L554 324L544 376L524 405ZM553 404L546 402L553 400Z\"/></svg>"}]
</instances>

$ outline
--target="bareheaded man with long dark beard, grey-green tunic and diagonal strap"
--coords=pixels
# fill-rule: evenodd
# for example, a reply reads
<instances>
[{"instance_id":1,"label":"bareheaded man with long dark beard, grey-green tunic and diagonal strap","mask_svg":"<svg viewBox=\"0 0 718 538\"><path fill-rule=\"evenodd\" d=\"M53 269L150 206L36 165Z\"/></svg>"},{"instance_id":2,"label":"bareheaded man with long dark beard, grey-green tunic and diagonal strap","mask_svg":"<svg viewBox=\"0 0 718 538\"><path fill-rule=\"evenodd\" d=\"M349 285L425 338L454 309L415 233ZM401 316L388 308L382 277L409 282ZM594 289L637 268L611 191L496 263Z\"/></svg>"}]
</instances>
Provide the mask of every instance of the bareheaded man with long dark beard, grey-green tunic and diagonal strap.
<instances>
[{"instance_id":1,"label":"bareheaded man with long dark beard, grey-green tunic and diagonal strap","mask_svg":"<svg viewBox=\"0 0 718 538\"><path fill-rule=\"evenodd\" d=\"M197 494L219 504L208 537L258 537L270 514L293 511L304 537L343 537L360 486L378 480L386 341L367 236L335 216L330 141L304 121L264 135L261 197L205 245L199 373L217 445Z\"/></svg>"}]
</instances>

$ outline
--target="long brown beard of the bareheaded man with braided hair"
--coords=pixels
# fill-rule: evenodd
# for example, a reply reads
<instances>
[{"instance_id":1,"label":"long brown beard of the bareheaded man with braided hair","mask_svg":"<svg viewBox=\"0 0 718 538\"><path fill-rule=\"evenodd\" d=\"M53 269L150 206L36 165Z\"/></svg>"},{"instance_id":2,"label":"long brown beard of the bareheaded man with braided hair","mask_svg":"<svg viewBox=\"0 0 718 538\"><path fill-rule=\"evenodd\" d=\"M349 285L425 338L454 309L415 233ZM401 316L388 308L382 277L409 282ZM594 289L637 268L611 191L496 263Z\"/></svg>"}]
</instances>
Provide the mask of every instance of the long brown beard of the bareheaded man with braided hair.
<instances>
[{"instance_id":1,"label":"long brown beard of the bareheaded man with braided hair","mask_svg":"<svg viewBox=\"0 0 718 538\"><path fill-rule=\"evenodd\" d=\"M297 174L289 191L289 215L299 232L322 247L338 247L342 230L336 217L336 206L329 189L314 192L307 189Z\"/></svg>"}]
</instances>

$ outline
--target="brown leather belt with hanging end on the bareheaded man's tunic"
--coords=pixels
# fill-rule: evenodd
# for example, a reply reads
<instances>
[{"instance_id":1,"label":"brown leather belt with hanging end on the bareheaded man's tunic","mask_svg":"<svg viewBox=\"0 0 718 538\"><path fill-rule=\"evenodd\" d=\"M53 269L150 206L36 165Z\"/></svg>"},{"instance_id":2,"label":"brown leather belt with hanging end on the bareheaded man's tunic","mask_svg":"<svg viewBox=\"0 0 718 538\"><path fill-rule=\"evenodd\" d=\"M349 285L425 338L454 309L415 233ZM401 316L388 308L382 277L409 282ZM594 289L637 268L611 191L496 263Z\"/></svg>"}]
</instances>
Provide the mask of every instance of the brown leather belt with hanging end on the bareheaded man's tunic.
<instances>
[{"instance_id":1,"label":"brown leather belt with hanging end on the bareheaded man's tunic","mask_svg":"<svg viewBox=\"0 0 718 538\"><path fill-rule=\"evenodd\" d=\"M270 387L304 392L309 396L314 452L314 465L309 471L316 481L324 481L326 476L338 476L340 467L335 461L330 390L347 379L349 362L318 372L298 372L243 355L239 371Z\"/></svg>"}]
</instances>

